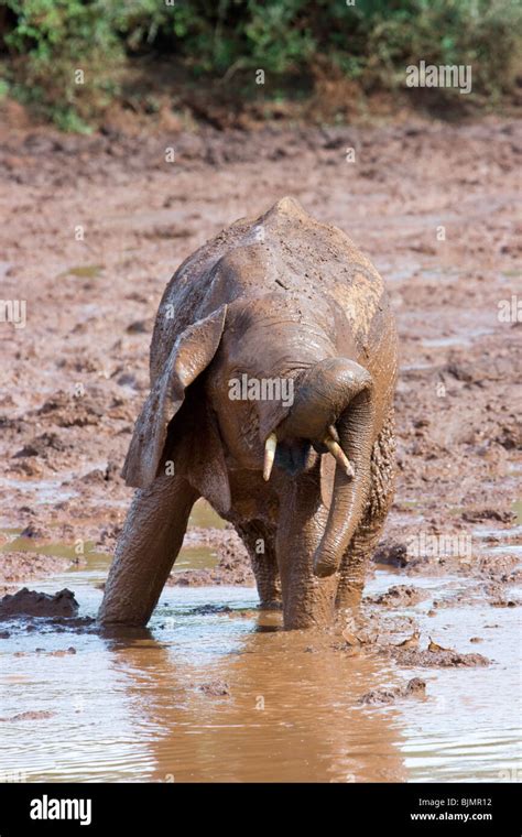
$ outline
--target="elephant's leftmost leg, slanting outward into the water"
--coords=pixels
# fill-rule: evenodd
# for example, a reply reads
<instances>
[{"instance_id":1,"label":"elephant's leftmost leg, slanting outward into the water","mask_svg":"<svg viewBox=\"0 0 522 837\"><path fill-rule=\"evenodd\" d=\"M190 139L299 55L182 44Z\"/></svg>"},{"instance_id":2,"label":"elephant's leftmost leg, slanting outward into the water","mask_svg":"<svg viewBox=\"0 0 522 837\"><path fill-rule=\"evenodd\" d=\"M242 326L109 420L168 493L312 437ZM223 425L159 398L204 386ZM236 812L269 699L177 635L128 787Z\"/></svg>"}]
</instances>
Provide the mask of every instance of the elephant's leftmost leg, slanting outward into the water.
<instances>
[{"instance_id":1,"label":"elephant's leftmost leg, slanting outward into the water","mask_svg":"<svg viewBox=\"0 0 522 837\"><path fill-rule=\"evenodd\" d=\"M100 622L146 624L177 557L197 498L185 479L166 475L135 492L107 579Z\"/></svg>"}]
</instances>

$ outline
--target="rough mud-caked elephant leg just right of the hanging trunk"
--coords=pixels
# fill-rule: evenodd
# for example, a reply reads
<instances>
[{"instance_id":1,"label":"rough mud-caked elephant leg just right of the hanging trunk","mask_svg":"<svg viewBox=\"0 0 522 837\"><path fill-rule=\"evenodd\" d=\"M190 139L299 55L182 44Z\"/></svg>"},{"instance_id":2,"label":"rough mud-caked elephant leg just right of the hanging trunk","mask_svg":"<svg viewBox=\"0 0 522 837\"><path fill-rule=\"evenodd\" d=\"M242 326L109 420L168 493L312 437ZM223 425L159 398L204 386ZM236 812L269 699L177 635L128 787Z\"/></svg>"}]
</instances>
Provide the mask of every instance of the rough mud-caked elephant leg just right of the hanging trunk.
<instances>
[{"instance_id":1,"label":"rough mud-caked elephant leg just right of the hanging trunk","mask_svg":"<svg viewBox=\"0 0 522 837\"><path fill-rule=\"evenodd\" d=\"M371 488L368 507L342 556L336 608L357 607L361 600L368 562L373 554L393 500L395 441L390 413L371 455Z\"/></svg>"}]
</instances>

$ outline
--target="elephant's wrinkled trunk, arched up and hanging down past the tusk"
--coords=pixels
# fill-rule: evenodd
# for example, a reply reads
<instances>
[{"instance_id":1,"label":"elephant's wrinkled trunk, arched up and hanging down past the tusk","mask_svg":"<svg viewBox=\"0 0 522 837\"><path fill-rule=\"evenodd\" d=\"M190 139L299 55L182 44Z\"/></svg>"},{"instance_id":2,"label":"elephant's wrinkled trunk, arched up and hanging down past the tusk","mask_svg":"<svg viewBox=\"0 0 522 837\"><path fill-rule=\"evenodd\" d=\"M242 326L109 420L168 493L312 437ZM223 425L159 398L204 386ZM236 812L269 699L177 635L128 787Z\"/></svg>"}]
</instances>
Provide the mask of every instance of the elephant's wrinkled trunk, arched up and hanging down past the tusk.
<instances>
[{"instance_id":1,"label":"elephant's wrinkled trunk, arched up and hanging down past the tusk","mask_svg":"<svg viewBox=\"0 0 522 837\"><path fill-rule=\"evenodd\" d=\"M282 430L285 435L320 442L329 425L335 425L352 470L350 474L336 465L328 520L314 555L314 573L320 577L338 570L370 487L374 428L372 379L363 367L347 358L327 359L309 370Z\"/></svg>"}]
</instances>

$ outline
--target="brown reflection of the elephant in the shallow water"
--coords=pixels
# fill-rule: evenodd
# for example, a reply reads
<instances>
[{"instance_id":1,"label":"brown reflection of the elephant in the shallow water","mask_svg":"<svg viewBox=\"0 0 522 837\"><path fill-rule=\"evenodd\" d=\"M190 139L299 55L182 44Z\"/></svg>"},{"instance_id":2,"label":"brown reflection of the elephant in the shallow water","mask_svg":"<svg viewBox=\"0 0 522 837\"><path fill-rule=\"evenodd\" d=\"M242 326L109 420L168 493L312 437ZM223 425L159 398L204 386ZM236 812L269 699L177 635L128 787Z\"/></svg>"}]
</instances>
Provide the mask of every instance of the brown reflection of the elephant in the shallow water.
<instances>
[{"instance_id":1,"label":"brown reflection of the elephant in the shallow water","mask_svg":"<svg viewBox=\"0 0 522 837\"><path fill-rule=\"evenodd\" d=\"M208 634L200 629L165 645L112 643L115 671L131 673L134 722L151 732L151 779L405 779L393 714L355 705L376 678L382 681L374 662L333 651L331 638L248 630L238 616L211 618L217 620L231 624L208 626ZM216 630L228 642L213 640ZM226 684L230 694L206 694L200 687L208 684L216 692Z\"/></svg>"}]
</instances>

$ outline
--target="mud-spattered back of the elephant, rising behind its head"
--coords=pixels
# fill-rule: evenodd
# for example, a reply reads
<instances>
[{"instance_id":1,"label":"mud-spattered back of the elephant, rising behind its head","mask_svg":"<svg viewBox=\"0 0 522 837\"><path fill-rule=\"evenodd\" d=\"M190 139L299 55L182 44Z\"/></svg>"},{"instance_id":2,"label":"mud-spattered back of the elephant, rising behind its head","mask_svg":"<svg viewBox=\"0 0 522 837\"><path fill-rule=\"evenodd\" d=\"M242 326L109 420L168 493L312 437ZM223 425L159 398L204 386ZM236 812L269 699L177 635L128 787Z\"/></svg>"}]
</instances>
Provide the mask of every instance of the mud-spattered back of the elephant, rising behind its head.
<instances>
[{"instance_id":1,"label":"mud-spattered back of the elephant, rising behind its head","mask_svg":"<svg viewBox=\"0 0 522 837\"><path fill-rule=\"evenodd\" d=\"M348 236L284 197L259 218L222 230L176 270L156 315L152 380L188 325L238 296L282 291L317 305L329 297L361 345L384 298L379 273Z\"/></svg>"}]
</instances>

